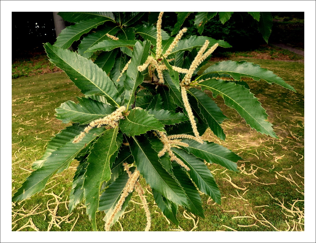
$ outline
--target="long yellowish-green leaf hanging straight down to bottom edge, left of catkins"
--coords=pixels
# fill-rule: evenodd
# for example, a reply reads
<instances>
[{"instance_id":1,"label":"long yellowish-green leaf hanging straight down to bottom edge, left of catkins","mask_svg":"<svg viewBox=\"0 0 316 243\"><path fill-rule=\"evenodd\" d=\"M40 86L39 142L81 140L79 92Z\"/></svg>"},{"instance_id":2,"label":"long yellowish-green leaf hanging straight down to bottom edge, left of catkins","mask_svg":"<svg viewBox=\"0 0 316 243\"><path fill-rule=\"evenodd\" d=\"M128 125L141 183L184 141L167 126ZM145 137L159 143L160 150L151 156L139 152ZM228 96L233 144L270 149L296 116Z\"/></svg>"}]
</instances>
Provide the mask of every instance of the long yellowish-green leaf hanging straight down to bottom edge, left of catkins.
<instances>
[{"instance_id":1,"label":"long yellowish-green leaf hanging straight down to bottom edge, left of catkins","mask_svg":"<svg viewBox=\"0 0 316 243\"><path fill-rule=\"evenodd\" d=\"M99 207L100 187L103 181L111 179L110 158L119 149L116 142L119 127L106 130L92 145L87 158L86 173L83 181L84 199L87 214L94 231L96 211Z\"/></svg>"}]
</instances>

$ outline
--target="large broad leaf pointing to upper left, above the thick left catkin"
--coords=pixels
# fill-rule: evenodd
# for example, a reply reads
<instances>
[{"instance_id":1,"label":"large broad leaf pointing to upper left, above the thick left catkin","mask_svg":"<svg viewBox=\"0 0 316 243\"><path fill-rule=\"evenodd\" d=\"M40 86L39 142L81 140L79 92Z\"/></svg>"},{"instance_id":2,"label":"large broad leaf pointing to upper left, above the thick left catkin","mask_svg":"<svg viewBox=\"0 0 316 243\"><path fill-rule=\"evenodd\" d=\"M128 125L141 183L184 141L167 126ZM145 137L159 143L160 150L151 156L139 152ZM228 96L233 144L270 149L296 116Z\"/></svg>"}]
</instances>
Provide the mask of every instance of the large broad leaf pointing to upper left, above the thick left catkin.
<instances>
[{"instance_id":1,"label":"large broad leaf pointing to upper left, above the thick left catkin","mask_svg":"<svg viewBox=\"0 0 316 243\"><path fill-rule=\"evenodd\" d=\"M49 60L64 70L83 94L103 95L112 106L119 107L120 97L117 89L112 80L96 64L76 52L61 49L49 43L46 43L44 47Z\"/></svg>"}]
</instances>

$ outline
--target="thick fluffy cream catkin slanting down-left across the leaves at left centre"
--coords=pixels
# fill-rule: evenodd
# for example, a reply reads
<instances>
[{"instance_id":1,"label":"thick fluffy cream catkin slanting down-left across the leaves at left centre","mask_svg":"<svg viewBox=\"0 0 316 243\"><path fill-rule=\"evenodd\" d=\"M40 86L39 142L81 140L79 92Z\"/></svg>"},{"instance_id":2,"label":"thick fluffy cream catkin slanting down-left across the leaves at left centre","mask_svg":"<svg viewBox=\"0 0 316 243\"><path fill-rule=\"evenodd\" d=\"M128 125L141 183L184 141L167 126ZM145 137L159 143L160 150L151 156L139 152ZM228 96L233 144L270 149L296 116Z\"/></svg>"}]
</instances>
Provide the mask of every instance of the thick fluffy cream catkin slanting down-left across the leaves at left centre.
<instances>
[{"instance_id":1,"label":"thick fluffy cream catkin slanting down-left across the leaves at left centre","mask_svg":"<svg viewBox=\"0 0 316 243\"><path fill-rule=\"evenodd\" d=\"M77 137L74 138L72 143L79 143L86 136L86 134L95 126L100 127L102 125L108 125L110 128L118 126L118 121L120 118L122 118L122 112L125 110L125 108L125 106L120 106L110 115L90 122L90 124L87 127L85 127L85 129Z\"/></svg>"}]
</instances>

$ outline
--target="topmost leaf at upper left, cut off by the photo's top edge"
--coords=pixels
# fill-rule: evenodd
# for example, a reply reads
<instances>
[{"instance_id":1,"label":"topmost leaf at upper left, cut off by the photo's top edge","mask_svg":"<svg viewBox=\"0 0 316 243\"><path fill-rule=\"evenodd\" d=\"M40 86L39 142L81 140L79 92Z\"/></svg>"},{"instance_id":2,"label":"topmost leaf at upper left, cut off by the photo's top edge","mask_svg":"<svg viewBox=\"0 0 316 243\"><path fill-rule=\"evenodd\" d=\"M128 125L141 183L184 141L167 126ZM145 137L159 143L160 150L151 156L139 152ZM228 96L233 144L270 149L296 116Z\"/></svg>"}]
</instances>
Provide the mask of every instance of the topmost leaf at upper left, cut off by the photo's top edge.
<instances>
[{"instance_id":1,"label":"topmost leaf at upper left, cut off by the photo's top edge","mask_svg":"<svg viewBox=\"0 0 316 243\"><path fill-rule=\"evenodd\" d=\"M58 15L65 21L72 23L97 17L104 18L106 21L115 22L112 12L59 12Z\"/></svg>"}]
</instances>

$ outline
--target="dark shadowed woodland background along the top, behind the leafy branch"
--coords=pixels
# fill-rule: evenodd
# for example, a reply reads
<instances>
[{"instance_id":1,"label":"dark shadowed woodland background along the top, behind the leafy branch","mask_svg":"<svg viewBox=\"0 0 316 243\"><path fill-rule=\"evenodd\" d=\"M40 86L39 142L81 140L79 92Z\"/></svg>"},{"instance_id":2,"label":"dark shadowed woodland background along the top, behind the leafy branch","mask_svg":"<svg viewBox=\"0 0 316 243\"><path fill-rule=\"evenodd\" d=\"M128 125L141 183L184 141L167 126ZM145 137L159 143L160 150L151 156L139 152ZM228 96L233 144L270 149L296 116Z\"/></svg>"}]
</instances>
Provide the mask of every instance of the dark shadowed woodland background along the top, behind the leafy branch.
<instances>
[{"instance_id":1,"label":"dark shadowed woodland background along the top, behind the leafy branch","mask_svg":"<svg viewBox=\"0 0 316 243\"><path fill-rule=\"evenodd\" d=\"M158 12L143 15L142 21L154 23ZM269 43L290 44L304 49L304 12L272 12L273 27ZM177 14L165 12L163 15L163 29L171 33L177 21ZM66 26L70 23L66 22ZM194 26L194 15L185 20L183 27L187 27L189 35L199 35ZM255 20L246 12L234 12L232 17L223 25L218 15L204 26L202 35L214 39L224 39L233 47L225 51L251 51L265 44L258 32ZM37 53L44 53L42 43L53 44L56 40L55 26L52 12L12 12L12 59L27 58ZM23 43L23 44L21 44ZM79 44L74 43L76 48Z\"/></svg>"}]
</instances>

